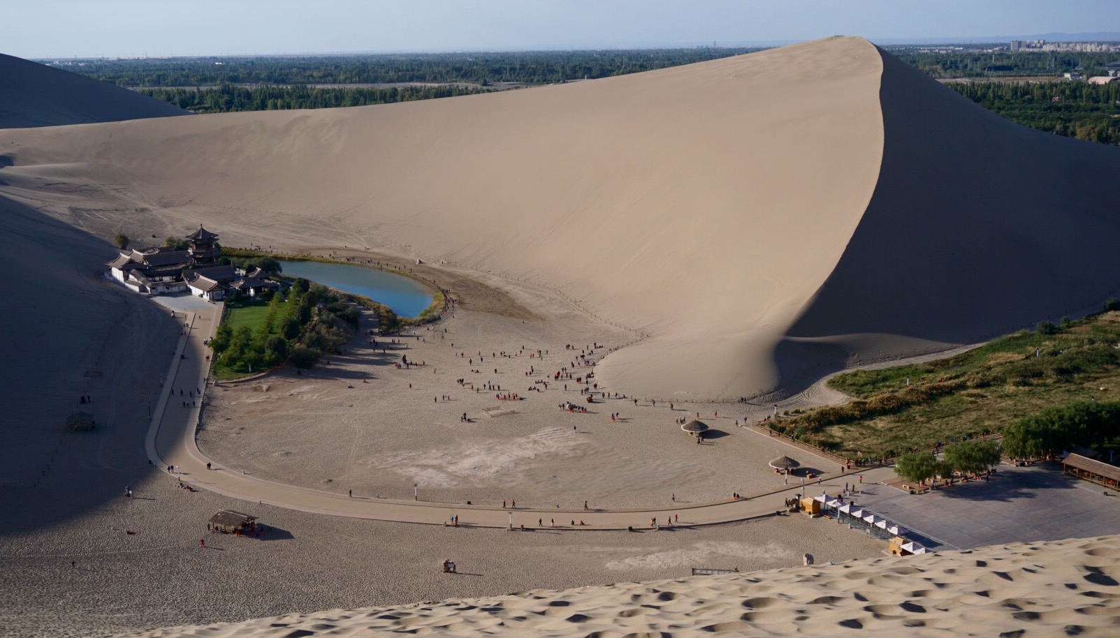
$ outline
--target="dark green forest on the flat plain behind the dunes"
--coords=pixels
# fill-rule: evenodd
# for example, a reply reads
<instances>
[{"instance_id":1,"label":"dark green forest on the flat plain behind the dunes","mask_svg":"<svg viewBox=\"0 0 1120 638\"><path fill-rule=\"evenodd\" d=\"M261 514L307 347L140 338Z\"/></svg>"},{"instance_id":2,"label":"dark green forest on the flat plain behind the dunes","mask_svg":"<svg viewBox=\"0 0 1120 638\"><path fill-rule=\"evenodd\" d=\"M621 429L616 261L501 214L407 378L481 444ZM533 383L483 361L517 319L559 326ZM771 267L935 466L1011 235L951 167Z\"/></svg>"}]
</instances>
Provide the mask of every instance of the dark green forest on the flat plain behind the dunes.
<instances>
[{"instance_id":1,"label":"dark green forest on the flat plain behind the dunes","mask_svg":"<svg viewBox=\"0 0 1120 638\"><path fill-rule=\"evenodd\" d=\"M760 49L571 50L355 56L86 60L69 71L114 82L197 113L363 106L484 93L498 83L540 85L624 75ZM903 62L934 77L1103 74L1110 53L913 53ZM404 83L430 83L423 86ZM314 86L400 84L400 86ZM1120 85L1084 82L951 83L981 106L1040 131L1120 143Z\"/></svg>"}]
</instances>

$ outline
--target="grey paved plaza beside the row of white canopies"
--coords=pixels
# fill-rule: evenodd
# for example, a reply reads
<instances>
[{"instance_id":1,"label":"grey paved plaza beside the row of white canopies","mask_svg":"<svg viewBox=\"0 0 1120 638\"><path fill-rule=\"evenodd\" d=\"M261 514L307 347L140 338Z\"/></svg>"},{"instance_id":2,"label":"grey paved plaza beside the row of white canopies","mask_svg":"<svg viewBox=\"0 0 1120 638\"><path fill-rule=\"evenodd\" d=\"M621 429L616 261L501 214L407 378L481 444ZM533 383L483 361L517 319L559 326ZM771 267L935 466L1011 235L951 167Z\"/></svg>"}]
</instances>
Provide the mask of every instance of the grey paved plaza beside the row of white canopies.
<instances>
[{"instance_id":1,"label":"grey paved plaza beside the row of white canopies","mask_svg":"<svg viewBox=\"0 0 1120 638\"><path fill-rule=\"evenodd\" d=\"M1120 533L1120 494L1067 477L1058 463L1000 466L991 482L922 495L881 484L862 488L858 505L926 536L934 550Z\"/></svg>"}]
</instances>

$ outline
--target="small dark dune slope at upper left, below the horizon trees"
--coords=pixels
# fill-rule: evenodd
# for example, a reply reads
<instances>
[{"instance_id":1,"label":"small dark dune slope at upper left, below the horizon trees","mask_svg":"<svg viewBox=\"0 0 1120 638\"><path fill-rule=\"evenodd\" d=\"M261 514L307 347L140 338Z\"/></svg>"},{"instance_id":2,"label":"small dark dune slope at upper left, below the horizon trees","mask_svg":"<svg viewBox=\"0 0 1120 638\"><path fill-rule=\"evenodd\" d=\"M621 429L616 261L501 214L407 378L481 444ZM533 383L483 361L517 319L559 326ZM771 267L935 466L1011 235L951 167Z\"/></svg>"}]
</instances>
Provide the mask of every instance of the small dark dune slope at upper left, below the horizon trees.
<instances>
[{"instance_id":1,"label":"small dark dune slope at upper left, below the horizon trees","mask_svg":"<svg viewBox=\"0 0 1120 638\"><path fill-rule=\"evenodd\" d=\"M186 114L178 106L109 82L0 54L0 129Z\"/></svg>"}]
</instances>

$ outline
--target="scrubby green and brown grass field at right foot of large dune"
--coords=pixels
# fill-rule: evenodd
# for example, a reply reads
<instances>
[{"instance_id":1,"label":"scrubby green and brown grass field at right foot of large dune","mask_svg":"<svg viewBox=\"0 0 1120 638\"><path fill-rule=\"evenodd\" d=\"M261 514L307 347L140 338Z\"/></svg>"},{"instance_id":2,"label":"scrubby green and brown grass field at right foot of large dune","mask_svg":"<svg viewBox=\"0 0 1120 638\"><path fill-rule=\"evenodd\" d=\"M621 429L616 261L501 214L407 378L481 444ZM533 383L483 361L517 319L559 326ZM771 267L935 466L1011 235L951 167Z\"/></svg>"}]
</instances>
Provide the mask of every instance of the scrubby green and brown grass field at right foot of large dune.
<instances>
[{"instance_id":1,"label":"scrubby green and brown grass field at right foot of large dune","mask_svg":"<svg viewBox=\"0 0 1120 638\"><path fill-rule=\"evenodd\" d=\"M1054 405L1120 400L1120 312L1043 328L944 359L838 375L829 385L852 401L775 428L844 454L896 456L1000 432Z\"/></svg>"}]
</instances>

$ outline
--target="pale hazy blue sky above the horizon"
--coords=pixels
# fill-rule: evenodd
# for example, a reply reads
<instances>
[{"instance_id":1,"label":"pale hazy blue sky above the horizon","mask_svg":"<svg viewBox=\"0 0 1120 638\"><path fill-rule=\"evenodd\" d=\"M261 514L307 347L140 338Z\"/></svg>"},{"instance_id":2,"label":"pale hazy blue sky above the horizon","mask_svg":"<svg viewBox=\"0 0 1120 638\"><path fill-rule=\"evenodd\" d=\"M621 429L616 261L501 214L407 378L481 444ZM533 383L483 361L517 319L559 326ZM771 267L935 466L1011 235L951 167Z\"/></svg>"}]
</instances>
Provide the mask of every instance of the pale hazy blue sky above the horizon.
<instances>
[{"instance_id":1,"label":"pale hazy blue sky above the horizon","mask_svg":"<svg viewBox=\"0 0 1120 638\"><path fill-rule=\"evenodd\" d=\"M967 41L1120 31L1117 0L0 0L26 58Z\"/></svg>"}]
</instances>

